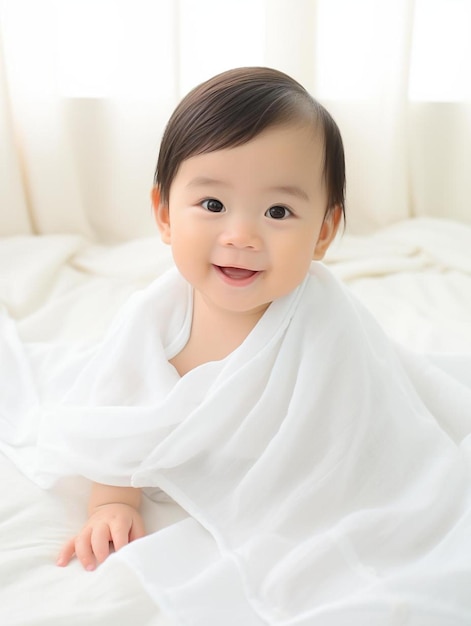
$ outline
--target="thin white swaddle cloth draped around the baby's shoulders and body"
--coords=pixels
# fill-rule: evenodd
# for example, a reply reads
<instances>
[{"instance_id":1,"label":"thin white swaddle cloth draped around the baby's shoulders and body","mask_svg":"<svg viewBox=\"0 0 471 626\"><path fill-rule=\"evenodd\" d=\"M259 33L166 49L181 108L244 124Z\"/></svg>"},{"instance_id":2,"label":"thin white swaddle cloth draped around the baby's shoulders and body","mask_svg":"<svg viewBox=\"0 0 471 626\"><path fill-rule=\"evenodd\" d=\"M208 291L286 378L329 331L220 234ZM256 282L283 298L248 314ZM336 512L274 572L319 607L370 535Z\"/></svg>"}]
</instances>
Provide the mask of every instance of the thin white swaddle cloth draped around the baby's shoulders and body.
<instances>
[{"instance_id":1,"label":"thin white swaddle cloth draped around the baby's shoulders and body","mask_svg":"<svg viewBox=\"0 0 471 626\"><path fill-rule=\"evenodd\" d=\"M59 404L10 402L2 449L43 486L82 474L185 508L110 557L177 623L469 625L471 388L397 348L319 263L180 378L191 301L175 270L136 294L100 346L54 364ZM2 377L31 395L44 360L28 372L10 331Z\"/></svg>"}]
</instances>

